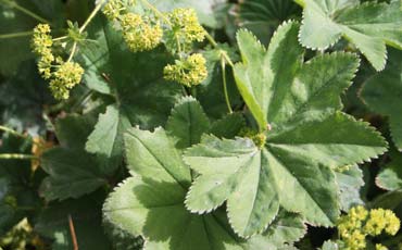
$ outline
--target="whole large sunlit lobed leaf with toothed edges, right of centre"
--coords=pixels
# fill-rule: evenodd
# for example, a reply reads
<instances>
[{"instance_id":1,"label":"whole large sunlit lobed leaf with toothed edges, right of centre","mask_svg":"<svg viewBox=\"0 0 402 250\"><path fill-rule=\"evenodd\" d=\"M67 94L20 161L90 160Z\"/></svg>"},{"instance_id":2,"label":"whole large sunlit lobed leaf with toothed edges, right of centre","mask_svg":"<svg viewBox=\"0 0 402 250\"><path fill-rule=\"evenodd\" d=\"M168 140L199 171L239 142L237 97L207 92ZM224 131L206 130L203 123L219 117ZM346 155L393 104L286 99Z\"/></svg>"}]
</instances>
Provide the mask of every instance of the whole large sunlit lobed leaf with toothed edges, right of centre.
<instances>
[{"instance_id":1,"label":"whole large sunlit lobed leaf with toothed edges, right of centre","mask_svg":"<svg viewBox=\"0 0 402 250\"><path fill-rule=\"evenodd\" d=\"M230 225L243 237L264 230L278 204L310 224L334 225L339 215L334 170L386 151L379 133L339 111L356 57L332 53L303 63L298 29L297 23L280 26L266 52L250 33L238 34L243 62L235 76L260 129L267 121L272 125L265 147L204 137L185 154L200 174L186 205L205 213L227 201Z\"/></svg>"}]
</instances>

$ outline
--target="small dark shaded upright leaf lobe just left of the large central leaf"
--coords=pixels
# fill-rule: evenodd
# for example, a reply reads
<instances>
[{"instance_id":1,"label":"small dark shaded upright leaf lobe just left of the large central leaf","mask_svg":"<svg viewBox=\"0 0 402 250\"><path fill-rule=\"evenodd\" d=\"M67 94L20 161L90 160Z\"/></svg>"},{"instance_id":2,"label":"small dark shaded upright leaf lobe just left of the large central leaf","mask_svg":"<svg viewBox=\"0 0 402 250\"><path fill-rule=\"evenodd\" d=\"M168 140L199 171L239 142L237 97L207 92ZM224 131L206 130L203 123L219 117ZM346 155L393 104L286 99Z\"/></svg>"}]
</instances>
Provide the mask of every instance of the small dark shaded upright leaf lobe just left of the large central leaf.
<instances>
[{"instance_id":1,"label":"small dark shaded upright leaf lobe just left of the large central leaf","mask_svg":"<svg viewBox=\"0 0 402 250\"><path fill-rule=\"evenodd\" d=\"M172 110L166 129L178 139L178 148L200 142L201 135L210 127L210 121L200 103L192 97L184 97Z\"/></svg>"}]
</instances>

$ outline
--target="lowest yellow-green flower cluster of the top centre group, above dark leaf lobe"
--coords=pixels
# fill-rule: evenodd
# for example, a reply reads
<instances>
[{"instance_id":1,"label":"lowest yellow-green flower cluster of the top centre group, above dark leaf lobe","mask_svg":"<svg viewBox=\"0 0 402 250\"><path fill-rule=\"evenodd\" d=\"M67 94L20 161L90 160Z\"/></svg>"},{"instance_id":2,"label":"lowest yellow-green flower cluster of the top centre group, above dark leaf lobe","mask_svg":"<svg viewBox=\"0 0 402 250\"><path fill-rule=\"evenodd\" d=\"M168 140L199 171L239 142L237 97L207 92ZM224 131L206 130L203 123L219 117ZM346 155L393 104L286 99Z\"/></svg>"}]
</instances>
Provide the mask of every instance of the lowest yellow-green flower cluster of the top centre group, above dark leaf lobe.
<instances>
[{"instance_id":1,"label":"lowest yellow-green flower cluster of the top centre group, above dark leaf lobe","mask_svg":"<svg viewBox=\"0 0 402 250\"><path fill-rule=\"evenodd\" d=\"M208 76L205 63L205 58L200 53L191 54L187 59L176 60L175 64L167 64L164 67L164 78L187 87L199 85Z\"/></svg>"}]
</instances>

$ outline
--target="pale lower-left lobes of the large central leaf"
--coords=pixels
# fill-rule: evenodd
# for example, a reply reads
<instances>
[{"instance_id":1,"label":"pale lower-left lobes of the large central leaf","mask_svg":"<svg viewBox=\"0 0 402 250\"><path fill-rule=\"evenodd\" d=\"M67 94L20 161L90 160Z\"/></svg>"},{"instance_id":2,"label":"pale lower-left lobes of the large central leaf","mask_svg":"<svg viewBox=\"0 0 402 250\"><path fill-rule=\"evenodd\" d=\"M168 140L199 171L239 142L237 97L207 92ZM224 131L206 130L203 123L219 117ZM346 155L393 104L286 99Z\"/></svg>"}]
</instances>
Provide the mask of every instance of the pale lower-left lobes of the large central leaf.
<instances>
[{"instance_id":1,"label":"pale lower-left lobes of the large central leaf","mask_svg":"<svg viewBox=\"0 0 402 250\"><path fill-rule=\"evenodd\" d=\"M186 152L185 161L201 174L186 198L191 212L210 212L227 200L230 224L242 237L262 233L278 213L266 152L251 140L204 137Z\"/></svg>"}]
</instances>

